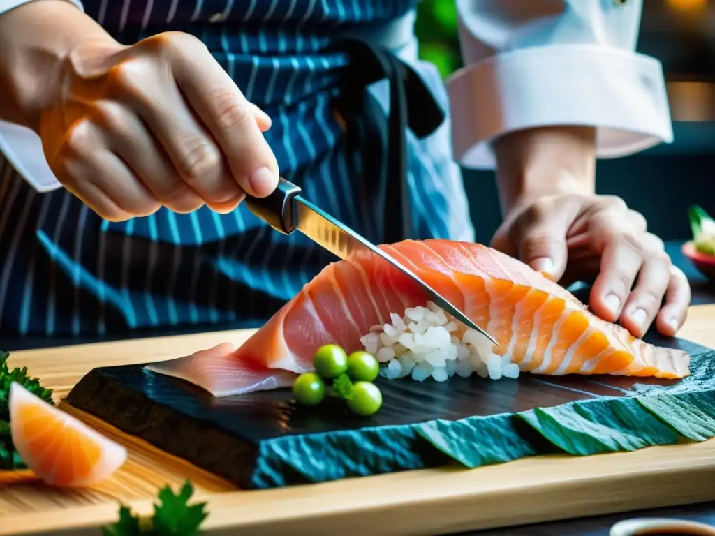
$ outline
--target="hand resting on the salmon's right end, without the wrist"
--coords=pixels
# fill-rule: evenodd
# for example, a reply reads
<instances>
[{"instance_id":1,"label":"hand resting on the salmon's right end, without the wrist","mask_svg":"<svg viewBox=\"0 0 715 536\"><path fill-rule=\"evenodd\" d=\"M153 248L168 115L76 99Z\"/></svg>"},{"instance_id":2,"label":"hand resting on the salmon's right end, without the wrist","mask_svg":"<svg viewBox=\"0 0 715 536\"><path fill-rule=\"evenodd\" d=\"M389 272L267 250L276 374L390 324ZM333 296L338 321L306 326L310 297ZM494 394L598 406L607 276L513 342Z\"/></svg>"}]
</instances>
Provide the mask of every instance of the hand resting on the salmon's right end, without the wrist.
<instances>
[{"instance_id":1,"label":"hand resting on the salmon's right end, without the wrist","mask_svg":"<svg viewBox=\"0 0 715 536\"><path fill-rule=\"evenodd\" d=\"M492 246L564 285L595 277L591 310L636 337L654 320L666 336L685 321L685 274L644 217L619 197L568 192L520 199Z\"/></svg>"}]
</instances>

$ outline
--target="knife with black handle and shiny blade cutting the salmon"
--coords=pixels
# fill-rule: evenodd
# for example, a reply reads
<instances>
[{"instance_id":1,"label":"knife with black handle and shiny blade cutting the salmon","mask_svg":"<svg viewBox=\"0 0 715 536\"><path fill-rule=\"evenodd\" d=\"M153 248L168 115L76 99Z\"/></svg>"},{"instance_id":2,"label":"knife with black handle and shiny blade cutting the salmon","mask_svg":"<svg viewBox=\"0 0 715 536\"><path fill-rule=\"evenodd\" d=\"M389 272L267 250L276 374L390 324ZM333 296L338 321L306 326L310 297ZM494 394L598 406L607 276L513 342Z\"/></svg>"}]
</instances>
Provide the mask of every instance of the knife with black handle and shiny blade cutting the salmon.
<instances>
[{"instance_id":1,"label":"knife with black handle and shiny blade cutting the salmon","mask_svg":"<svg viewBox=\"0 0 715 536\"><path fill-rule=\"evenodd\" d=\"M390 254L383 252L375 244L361 237L360 234L347 227L347 225L301 197L300 193L300 187L281 178L278 181L278 187L272 194L262 198L249 196L246 198L246 204L253 214L264 220L276 231L282 234L290 234L297 229L316 244L340 257L340 259L346 259L356 251L370 250L370 252L382 257L413 279L427 292L435 304L445 309L446 312L465 324L465 326L484 334L485 337L498 346L498 342L490 334L472 322L466 314L430 287L423 279L420 279L408 267L405 267Z\"/></svg>"}]
</instances>

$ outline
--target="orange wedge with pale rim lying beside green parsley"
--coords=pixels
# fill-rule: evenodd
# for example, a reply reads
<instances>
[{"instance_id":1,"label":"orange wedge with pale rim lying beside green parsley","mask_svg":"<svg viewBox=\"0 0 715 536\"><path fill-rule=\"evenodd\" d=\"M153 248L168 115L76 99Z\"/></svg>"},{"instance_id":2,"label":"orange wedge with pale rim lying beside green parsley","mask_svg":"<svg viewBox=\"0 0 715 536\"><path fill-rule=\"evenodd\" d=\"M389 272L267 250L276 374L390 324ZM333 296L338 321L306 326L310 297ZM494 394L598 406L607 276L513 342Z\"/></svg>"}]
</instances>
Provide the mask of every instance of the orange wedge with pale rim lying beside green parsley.
<instances>
[{"instance_id":1,"label":"orange wedge with pale rim lying beside green parsley","mask_svg":"<svg viewBox=\"0 0 715 536\"><path fill-rule=\"evenodd\" d=\"M10 385L10 433L22 460L49 485L82 487L107 479L127 450L20 384Z\"/></svg>"}]
</instances>

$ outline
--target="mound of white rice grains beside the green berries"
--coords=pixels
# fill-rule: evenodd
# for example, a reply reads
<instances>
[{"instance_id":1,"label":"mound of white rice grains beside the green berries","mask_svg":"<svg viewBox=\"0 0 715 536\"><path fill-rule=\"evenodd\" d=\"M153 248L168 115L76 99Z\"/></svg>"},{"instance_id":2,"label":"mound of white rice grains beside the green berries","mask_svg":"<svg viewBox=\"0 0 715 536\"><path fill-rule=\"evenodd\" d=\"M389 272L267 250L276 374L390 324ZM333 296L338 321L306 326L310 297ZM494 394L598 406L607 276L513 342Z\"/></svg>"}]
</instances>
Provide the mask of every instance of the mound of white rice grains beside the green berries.
<instances>
[{"instance_id":1,"label":"mound of white rice grains beside the green berries","mask_svg":"<svg viewBox=\"0 0 715 536\"><path fill-rule=\"evenodd\" d=\"M444 382L457 374L469 377L516 378L519 367L510 357L493 353L493 343L475 329L466 327L432 302L427 307L405 309L400 317L390 313L392 323L373 326L361 337L365 352L377 357L380 375L411 376L418 382L432 377Z\"/></svg>"}]
</instances>

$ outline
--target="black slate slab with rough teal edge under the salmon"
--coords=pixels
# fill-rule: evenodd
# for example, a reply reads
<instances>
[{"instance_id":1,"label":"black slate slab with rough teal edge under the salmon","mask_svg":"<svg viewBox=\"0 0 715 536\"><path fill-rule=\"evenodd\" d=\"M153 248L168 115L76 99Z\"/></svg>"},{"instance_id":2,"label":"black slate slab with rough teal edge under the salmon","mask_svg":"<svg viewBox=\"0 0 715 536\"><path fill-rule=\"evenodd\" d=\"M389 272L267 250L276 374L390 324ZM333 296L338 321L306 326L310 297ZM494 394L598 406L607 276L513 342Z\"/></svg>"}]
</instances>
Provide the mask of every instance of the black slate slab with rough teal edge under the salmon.
<instances>
[{"instance_id":1,"label":"black slate slab with rough teal edge under the salmon","mask_svg":"<svg viewBox=\"0 0 715 536\"><path fill-rule=\"evenodd\" d=\"M713 399L715 352L677 339L651 337L651 342L689 352L691 376L523 374L496 382L455 376L443 383L380 379L383 408L373 417L356 417L338 401L310 409L297 406L289 389L216 399L192 384L132 365L94 369L66 401L244 488L435 467L454 460L475 467L548 452L633 450L689 437L678 425L662 424L657 407L645 410L631 402L641 397L662 402L664 396L692 393ZM614 400L622 404L613 405ZM703 403L697 402L699 412L705 411ZM558 410L546 417L563 430L544 425L544 415L535 408ZM609 440L593 437L587 430L591 426L608 427ZM711 428L715 435L715 422Z\"/></svg>"}]
</instances>

